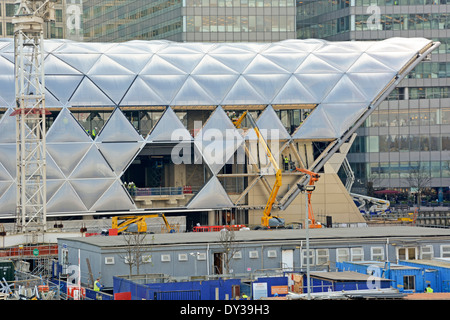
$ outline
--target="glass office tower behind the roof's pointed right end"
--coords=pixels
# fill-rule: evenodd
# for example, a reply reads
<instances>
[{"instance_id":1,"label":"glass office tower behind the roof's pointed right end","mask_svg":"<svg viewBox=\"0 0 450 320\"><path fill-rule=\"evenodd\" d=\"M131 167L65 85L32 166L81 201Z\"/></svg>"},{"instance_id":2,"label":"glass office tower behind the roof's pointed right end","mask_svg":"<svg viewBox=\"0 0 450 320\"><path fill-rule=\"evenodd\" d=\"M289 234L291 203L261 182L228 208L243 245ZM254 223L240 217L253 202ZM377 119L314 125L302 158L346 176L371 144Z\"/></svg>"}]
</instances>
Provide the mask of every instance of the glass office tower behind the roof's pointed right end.
<instances>
[{"instance_id":1,"label":"glass office tower behind the roof's pointed right end","mask_svg":"<svg viewBox=\"0 0 450 320\"><path fill-rule=\"evenodd\" d=\"M297 37L364 41L425 37L441 46L402 80L357 131L348 160L353 191L414 191L413 173L448 200L450 186L450 3L446 0L297 1Z\"/></svg>"}]
</instances>

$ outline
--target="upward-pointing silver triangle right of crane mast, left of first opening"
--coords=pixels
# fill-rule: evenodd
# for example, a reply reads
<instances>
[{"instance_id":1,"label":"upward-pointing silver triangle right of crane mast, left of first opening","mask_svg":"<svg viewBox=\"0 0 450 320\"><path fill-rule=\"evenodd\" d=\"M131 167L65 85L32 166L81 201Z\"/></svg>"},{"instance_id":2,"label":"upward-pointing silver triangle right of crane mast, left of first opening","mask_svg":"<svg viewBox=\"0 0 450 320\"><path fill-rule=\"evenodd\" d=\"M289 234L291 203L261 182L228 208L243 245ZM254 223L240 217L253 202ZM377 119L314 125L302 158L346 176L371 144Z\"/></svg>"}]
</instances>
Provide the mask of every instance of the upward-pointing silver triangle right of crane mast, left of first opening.
<instances>
[{"instance_id":1,"label":"upward-pointing silver triangle right of crane mast, left of first opening","mask_svg":"<svg viewBox=\"0 0 450 320\"><path fill-rule=\"evenodd\" d=\"M83 127L67 108L61 109L47 132L47 143L92 142Z\"/></svg>"}]
</instances>

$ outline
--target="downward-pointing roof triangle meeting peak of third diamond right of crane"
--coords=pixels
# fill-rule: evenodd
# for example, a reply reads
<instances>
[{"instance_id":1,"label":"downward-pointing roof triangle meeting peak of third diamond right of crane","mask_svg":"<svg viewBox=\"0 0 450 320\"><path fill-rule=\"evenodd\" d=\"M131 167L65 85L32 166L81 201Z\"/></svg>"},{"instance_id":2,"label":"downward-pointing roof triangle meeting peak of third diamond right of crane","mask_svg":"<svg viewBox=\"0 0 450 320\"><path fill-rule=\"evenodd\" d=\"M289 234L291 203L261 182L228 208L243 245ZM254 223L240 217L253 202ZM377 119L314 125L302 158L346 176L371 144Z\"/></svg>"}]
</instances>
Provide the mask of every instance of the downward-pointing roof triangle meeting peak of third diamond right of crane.
<instances>
[{"instance_id":1,"label":"downward-pointing roof triangle meeting peak of third diamond right of crane","mask_svg":"<svg viewBox=\"0 0 450 320\"><path fill-rule=\"evenodd\" d=\"M165 105L171 104L173 97L186 81L187 75L139 75L139 78L157 92Z\"/></svg>"}]
</instances>

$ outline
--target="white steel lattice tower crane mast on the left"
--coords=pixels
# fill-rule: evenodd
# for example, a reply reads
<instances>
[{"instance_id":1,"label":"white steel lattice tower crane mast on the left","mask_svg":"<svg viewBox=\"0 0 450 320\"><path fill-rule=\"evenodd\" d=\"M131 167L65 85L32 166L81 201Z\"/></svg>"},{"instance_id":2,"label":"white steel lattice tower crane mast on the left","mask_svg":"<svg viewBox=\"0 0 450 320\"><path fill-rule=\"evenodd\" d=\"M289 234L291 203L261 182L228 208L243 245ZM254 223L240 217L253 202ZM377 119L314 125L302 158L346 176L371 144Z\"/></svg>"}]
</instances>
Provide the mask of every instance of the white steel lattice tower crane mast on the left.
<instances>
[{"instance_id":1,"label":"white steel lattice tower crane mast on the left","mask_svg":"<svg viewBox=\"0 0 450 320\"><path fill-rule=\"evenodd\" d=\"M56 0L17 0L14 25L16 228L46 230L44 23Z\"/></svg>"}]
</instances>

